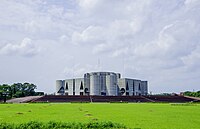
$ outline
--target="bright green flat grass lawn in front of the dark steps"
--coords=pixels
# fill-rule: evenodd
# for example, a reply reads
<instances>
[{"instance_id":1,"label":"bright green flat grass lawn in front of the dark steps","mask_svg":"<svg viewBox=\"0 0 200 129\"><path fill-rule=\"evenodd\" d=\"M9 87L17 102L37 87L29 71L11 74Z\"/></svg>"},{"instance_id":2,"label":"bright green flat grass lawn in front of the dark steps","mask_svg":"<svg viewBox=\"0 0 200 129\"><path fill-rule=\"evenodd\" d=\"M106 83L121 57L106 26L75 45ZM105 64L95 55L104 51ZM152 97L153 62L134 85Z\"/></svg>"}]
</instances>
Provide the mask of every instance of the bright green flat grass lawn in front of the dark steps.
<instances>
[{"instance_id":1,"label":"bright green flat grass lawn in front of the dark steps","mask_svg":"<svg viewBox=\"0 0 200 129\"><path fill-rule=\"evenodd\" d=\"M200 104L0 104L0 122L111 121L141 129L200 129Z\"/></svg>"}]
</instances>

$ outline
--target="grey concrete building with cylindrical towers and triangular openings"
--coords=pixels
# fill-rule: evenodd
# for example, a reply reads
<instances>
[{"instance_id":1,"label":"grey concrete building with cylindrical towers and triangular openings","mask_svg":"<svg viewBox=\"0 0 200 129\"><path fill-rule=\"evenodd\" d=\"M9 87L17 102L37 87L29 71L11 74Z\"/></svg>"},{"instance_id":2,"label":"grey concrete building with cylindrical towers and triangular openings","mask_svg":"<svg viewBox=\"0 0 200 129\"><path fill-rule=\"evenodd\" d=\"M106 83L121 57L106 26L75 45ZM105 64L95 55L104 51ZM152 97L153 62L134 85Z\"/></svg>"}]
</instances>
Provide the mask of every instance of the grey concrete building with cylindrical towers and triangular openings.
<instances>
[{"instance_id":1,"label":"grey concrete building with cylindrical towers and triangular openings","mask_svg":"<svg viewBox=\"0 0 200 129\"><path fill-rule=\"evenodd\" d=\"M56 80L56 95L139 96L147 95L148 83L121 78L120 73L92 72L84 78Z\"/></svg>"}]
</instances>

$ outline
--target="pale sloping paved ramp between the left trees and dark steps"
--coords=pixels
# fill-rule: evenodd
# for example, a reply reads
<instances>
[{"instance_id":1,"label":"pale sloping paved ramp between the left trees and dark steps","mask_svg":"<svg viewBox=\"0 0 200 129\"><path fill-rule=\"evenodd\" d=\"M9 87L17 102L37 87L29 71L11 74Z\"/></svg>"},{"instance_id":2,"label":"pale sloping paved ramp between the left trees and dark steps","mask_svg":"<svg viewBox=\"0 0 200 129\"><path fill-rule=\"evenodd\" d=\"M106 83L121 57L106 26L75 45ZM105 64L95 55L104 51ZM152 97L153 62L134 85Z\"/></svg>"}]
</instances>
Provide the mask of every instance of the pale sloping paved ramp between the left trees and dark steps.
<instances>
[{"instance_id":1,"label":"pale sloping paved ramp between the left trees and dark steps","mask_svg":"<svg viewBox=\"0 0 200 129\"><path fill-rule=\"evenodd\" d=\"M7 103L26 103L26 102L30 102L41 97L42 96L27 96L27 97L10 99L10 100L7 100L6 102Z\"/></svg>"}]
</instances>

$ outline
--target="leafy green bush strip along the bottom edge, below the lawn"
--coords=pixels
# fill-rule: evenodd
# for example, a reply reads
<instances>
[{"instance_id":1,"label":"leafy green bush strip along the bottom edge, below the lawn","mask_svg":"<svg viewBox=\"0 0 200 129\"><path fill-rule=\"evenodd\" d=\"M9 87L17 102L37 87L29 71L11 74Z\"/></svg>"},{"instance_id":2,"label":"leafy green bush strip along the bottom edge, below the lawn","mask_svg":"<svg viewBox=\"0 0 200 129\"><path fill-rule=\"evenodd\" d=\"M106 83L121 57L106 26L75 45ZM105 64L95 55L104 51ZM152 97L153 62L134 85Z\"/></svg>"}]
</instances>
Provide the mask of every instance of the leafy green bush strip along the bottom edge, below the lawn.
<instances>
[{"instance_id":1,"label":"leafy green bush strip along the bottom edge, below the lawn","mask_svg":"<svg viewBox=\"0 0 200 129\"><path fill-rule=\"evenodd\" d=\"M50 121L42 123L30 121L22 124L0 123L0 129L126 129L126 127L112 122L65 123Z\"/></svg>"}]
</instances>

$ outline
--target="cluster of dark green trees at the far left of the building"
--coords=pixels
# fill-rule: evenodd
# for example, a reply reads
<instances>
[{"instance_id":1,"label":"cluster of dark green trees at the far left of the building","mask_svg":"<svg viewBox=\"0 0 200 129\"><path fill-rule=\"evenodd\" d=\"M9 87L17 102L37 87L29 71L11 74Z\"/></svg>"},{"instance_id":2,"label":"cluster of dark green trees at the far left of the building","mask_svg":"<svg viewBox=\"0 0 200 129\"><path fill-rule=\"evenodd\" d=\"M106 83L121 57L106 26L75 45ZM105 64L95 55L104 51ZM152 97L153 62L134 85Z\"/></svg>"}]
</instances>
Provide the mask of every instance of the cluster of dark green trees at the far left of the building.
<instances>
[{"instance_id":1,"label":"cluster of dark green trees at the far left of the building","mask_svg":"<svg viewBox=\"0 0 200 129\"><path fill-rule=\"evenodd\" d=\"M18 98L25 96L43 95L42 92L35 92L37 86L32 83L14 83L12 85L0 85L0 98L6 96L7 98Z\"/></svg>"}]
</instances>

